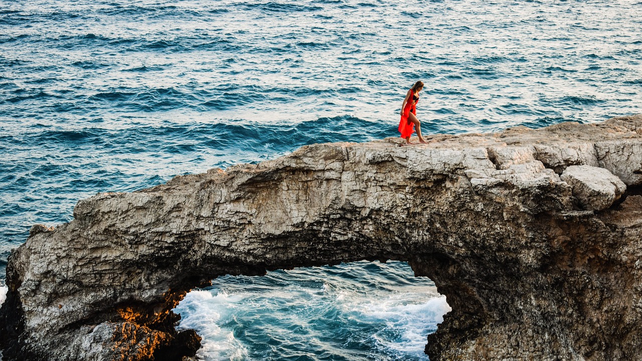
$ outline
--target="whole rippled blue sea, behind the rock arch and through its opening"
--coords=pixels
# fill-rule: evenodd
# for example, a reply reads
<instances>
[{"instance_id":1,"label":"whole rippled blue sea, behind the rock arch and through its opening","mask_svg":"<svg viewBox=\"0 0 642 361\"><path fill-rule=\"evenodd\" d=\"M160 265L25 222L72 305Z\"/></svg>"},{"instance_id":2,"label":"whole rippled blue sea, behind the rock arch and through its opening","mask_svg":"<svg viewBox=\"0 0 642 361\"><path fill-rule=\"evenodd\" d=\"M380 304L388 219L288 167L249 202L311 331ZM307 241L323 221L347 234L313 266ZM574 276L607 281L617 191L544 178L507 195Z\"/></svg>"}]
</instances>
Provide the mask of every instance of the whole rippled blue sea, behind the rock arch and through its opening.
<instances>
[{"instance_id":1,"label":"whole rippled blue sea, behind the rock arch and through its opening","mask_svg":"<svg viewBox=\"0 0 642 361\"><path fill-rule=\"evenodd\" d=\"M0 302L78 200L397 137L642 112L639 0L0 0ZM224 276L178 305L200 360L428 360L450 310L407 263Z\"/></svg>"}]
</instances>

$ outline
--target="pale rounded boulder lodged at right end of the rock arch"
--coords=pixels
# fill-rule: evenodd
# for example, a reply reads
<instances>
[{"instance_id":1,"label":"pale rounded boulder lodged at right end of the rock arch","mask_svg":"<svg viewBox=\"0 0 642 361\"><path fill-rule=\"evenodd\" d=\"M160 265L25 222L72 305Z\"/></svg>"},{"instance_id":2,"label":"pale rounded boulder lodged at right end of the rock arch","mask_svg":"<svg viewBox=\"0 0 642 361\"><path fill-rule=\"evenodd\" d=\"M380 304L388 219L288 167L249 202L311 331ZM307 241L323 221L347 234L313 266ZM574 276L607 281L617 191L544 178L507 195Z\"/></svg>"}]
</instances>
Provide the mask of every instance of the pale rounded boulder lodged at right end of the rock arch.
<instances>
[{"instance_id":1,"label":"pale rounded boulder lodged at right end of the rock arch","mask_svg":"<svg viewBox=\"0 0 642 361\"><path fill-rule=\"evenodd\" d=\"M627 190L626 184L604 168L594 166L569 166L561 179L573 188L573 195L590 211L601 211Z\"/></svg>"}]
</instances>

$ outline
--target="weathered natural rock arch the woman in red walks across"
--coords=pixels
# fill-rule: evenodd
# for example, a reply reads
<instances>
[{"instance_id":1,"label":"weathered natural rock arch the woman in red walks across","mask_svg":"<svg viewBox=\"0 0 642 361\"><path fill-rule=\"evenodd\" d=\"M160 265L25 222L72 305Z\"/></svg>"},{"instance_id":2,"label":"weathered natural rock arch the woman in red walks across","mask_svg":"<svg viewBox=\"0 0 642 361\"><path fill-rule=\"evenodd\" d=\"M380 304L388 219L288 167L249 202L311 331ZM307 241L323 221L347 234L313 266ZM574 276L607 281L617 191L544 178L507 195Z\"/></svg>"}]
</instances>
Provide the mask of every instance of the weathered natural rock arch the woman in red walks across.
<instances>
[{"instance_id":1,"label":"weathered natural rock arch the woman in red walks across","mask_svg":"<svg viewBox=\"0 0 642 361\"><path fill-rule=\"evenodd\" d=\"M11 360L180 360L172 308L223 274L409 261L452 311L437 360L636 360L642 116L304 146L78 202L7 268Z\"/></svg>"}]
</instances>

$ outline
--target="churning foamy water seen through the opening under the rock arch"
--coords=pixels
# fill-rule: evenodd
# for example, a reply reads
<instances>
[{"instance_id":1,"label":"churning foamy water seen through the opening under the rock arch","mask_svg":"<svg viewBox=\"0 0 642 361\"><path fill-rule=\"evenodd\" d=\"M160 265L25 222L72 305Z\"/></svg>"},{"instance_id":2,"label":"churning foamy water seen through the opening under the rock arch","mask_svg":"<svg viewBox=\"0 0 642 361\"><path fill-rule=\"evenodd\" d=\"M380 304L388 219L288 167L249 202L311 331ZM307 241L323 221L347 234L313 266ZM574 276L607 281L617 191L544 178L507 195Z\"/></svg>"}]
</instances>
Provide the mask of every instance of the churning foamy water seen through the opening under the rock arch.
<instances>
[{"instance_id":1,"label":"churning foamy water seen through the opening under the rock arch","mask_svg":"<svg viewBox=\"0 0 642 361\"><path fill-rule=\"evenodd\" d=\"M428 279L410 278L407 265L381 272L408 277L411 285L391 284L372 270L370 276L367 266L220 277L214 288L190 292L178 305L179 328L203 337L198 357L204 361L277 360L303 350L315 360L427 361L426 337L451 310L446 297Z\"/></svg>"}]
</instances>

